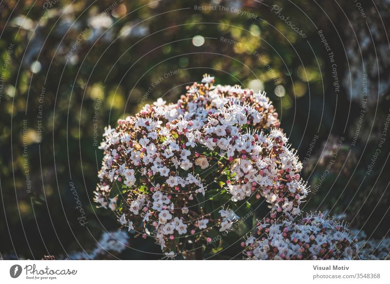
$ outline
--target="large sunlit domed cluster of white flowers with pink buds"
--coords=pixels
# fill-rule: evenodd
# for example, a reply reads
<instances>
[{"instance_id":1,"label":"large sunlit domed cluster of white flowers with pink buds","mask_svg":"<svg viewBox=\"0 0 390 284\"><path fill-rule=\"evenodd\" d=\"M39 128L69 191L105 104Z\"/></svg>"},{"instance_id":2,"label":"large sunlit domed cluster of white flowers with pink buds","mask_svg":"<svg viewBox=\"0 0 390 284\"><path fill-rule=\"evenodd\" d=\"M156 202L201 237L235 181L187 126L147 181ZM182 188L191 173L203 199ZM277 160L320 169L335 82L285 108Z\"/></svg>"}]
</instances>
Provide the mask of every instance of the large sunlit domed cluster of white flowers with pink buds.
<instances>
[{"instance_id":1,"label":"large sunlit domed cluster of white flowers with pink buds","mask_svg":"<svg viewBox=\"0 0 390 284\"><path fill-rule=\"evenodd\" d=\"M248 233L261 201L272 219L299 215L308 194L302 164L265 93L215 85L208 75L186 89L177 103L159 98L105 129L99 206L155 238L167 257L187 258L219 246L234 222L245 221L235 227Z\"/></svg>"}]
</instances>

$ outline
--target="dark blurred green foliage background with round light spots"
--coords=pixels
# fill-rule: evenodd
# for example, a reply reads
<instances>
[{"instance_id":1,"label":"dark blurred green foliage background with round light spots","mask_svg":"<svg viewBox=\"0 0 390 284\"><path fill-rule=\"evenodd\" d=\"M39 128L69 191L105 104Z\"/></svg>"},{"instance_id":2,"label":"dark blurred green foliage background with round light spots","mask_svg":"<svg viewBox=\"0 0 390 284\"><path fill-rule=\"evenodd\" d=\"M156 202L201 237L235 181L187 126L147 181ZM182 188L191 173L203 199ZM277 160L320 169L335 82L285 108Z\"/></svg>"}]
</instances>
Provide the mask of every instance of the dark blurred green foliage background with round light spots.
<instances>
[{"instance_id":1,"label":"dark blurred green foliage background with round light spots","mask_svg":"<svg viewBox=\"0 0 390 284\"><path fill-rule=\"evenodd\" d=\"M267 92L305 211L387 236L389 23L389 0L1 1L0 256L66 257L115 230L92 201L104 127L204 73ZM119 258L161 258L129 246Z\"/></svg>"}]
</instances>

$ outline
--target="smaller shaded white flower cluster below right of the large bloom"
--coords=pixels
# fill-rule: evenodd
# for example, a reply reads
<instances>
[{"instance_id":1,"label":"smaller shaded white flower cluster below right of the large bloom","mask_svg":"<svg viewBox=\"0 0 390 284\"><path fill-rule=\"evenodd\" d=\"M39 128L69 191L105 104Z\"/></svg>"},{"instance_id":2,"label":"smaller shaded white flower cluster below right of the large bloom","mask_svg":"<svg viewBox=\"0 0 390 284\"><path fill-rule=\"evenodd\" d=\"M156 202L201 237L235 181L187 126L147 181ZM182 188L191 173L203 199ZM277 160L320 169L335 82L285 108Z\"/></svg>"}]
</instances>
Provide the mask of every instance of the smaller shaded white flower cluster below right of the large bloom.
<instances>
[{"instance_id":1,"label":"smaller shaded white flower cluster below right of the large bloom","mask_svg":"<svg viewBox=\"0 0 390 284\"><path fill-rule=\"evenodd\" d=\"M259 238L249 237L241 246L251 260L324 260L354 259L359 252L357 240L342 223L324 214L308 214L299 222L274 222L265 219L258 224Z\"/></svg>"}]
</instances>

